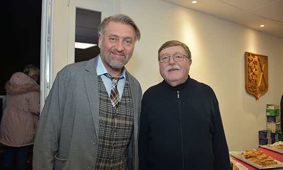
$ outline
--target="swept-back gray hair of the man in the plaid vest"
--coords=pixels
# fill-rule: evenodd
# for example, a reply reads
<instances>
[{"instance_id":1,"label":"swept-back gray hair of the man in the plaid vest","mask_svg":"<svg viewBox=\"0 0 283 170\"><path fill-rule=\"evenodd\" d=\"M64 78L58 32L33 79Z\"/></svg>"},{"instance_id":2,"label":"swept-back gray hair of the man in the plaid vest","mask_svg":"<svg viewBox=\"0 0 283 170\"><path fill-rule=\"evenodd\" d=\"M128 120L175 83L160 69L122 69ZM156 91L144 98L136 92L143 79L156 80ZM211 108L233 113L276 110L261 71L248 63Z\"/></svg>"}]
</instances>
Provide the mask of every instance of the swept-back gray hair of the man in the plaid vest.
<instances>
[{"instance_id":1,"label":"swept-back gray hair of the man in the plaid vest","mask_svg":"<svg viewBox=\"0 0 283 170\"><path fill-rule=\"evenodd\" d=\"M109 16L107 18L104 18L103 21L100 23L100 25L98 27L98 37L100 37L100 36L101 36L101 38L103 37L103 34L106 30L106 27L111 21L133 26L134 29L135 29L135 32L136 32L136 41L140 40L141 32L140 32L139 27L136 25L136 23L134 22L134 20L131 17L129 17L125 14L116 14L116 15L112 15L112 16Z\"/></svg>"}]
</instances>

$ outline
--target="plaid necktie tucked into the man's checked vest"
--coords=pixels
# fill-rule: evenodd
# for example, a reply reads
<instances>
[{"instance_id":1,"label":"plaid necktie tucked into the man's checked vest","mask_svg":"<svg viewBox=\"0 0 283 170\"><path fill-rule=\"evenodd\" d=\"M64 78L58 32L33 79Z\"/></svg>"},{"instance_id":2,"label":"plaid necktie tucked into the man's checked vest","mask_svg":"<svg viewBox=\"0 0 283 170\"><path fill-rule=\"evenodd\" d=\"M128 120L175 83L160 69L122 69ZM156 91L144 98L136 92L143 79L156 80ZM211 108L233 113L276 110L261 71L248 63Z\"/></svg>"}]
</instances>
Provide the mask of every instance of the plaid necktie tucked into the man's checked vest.
<instances>
[{"instance_id":1,"label":"plaid necktie tucked into the man's checked vest","mask_svg":"<svg viewBox=\"0 0 283 170\"><path fill-rule=\"evenodd\" d=\"M119 105L119 101L120 101L119 93L118 93L118 90L117 90L117 84L118 84L119 79L121 79L121 78L112 77L109 73L106 73L104 75L112 80L110 99L111 99L111 103L112 103L114 109L117 110L118 105Z\"/></svg>"}]
</instances>

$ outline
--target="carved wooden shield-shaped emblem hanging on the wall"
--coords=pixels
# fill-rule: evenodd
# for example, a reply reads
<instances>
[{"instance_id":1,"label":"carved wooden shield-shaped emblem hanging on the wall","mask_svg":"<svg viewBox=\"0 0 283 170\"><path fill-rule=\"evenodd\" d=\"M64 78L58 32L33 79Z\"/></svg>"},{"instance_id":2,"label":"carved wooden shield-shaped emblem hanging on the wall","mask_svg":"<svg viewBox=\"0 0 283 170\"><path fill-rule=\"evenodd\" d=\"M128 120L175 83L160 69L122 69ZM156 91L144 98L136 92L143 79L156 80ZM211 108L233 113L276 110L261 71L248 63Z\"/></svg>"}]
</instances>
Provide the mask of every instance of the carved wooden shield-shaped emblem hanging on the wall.
<instances>
[{"instance_id":1,"label":"carved wooden shield-shaped emblem hanging on the wall","mask_svg":"<svg viewBox=\"0 0 283 170\"><path fill-rule=\"evenodd\" d=\"M256 99L268 90L268 56L245 52L246 90Z\"/></svg>"}]
</instances>

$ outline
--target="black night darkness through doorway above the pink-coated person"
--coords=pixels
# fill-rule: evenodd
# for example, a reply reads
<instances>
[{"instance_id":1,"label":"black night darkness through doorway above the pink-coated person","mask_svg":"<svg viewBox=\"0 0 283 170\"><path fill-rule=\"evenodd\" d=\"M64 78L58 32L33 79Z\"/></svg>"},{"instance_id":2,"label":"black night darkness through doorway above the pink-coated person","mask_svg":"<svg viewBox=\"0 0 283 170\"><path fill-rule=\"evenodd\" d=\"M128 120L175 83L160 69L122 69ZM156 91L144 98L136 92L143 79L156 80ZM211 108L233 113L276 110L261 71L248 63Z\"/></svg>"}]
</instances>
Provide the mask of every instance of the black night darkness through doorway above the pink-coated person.
<instances>
[{"instance_id":1,"label":"black night darkness through doorway above the pink-coated person","mask_svg":"<svg viewBox=\"0 0 283 170\"><path fill-rule=\"evenodd\" d=\"M40 68L41 0L13 0L3 2L0 95L6 95L5 83L25 65Z\"/></svg>"}]
</instances>

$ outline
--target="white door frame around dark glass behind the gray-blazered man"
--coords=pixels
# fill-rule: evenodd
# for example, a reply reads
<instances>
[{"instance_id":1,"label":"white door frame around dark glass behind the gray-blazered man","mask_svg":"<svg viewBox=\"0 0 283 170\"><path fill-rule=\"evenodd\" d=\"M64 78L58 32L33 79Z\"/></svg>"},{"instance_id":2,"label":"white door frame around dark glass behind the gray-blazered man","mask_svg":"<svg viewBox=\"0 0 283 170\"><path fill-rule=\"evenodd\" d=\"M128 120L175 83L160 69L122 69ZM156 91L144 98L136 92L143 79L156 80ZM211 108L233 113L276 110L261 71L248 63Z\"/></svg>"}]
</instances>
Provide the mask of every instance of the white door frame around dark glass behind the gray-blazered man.
<instances>
[{"instance_id":1,"label":"white door frame around dark glass behind the gray-blazered man","mask_svg":"<svg viewBox=\"0 0 283 170\"><path fill-rule=\"evenodd\" d=\"M76 8L101 12L101 20L120 11L121 0L42 0L41 111L56 74L74 63ZM54 8L54 6L56 8ZM118 9L118 10L117 10ZM56 21L54 24L54 14ZM67 33L65 33L67 31ZM56 32L56 35L55 33Z\"/></svg>"}]
</instances>

